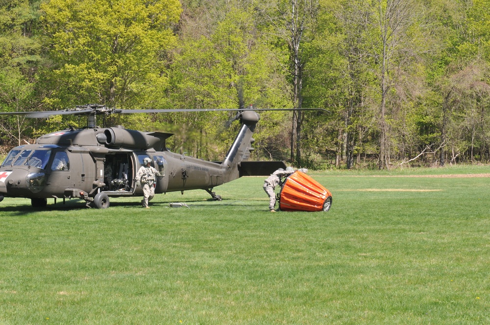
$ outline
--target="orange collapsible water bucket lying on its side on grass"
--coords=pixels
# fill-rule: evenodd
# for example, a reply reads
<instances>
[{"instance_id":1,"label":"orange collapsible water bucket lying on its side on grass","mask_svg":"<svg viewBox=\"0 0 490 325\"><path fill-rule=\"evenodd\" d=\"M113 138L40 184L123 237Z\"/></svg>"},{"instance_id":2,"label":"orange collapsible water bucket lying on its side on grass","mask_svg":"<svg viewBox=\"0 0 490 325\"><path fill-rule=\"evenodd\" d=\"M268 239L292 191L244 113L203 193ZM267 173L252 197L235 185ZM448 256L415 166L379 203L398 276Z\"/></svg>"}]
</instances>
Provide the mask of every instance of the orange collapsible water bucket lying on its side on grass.
<instances>
[{"instance_id":1,"label":"orange collapsible water bucket lying on its side on grass","mask_svg":"<svg viewBox=\"0 0 490 325\"><path fill-rule=\"evenodd\" d=\"M332 193L299 170L288 176L279 193L281 211L328 211Z\"/></svg>"}]
</instances>

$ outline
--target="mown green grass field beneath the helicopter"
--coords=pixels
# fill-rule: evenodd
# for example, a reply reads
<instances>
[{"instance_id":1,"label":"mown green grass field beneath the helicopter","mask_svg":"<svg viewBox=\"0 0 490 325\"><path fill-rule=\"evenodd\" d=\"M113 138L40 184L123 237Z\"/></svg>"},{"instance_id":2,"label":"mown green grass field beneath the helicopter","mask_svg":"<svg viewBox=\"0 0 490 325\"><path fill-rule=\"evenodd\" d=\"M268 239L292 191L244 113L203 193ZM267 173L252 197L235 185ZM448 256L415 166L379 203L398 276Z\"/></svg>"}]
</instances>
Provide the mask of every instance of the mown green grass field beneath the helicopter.
<instances>
[{"instance_id":1,"label":"mown green grass field beneath the helicopter","mask_svg":"<svg viewBox=\"0 0 490 325\"><path fill-rule=\"evenodd\" d=\"M487 172L315 172L313 213L268 212L257 177L152 209L7 198L0 324L489 324L490 178L447 177Z\"/></svg>"}]
</instances>

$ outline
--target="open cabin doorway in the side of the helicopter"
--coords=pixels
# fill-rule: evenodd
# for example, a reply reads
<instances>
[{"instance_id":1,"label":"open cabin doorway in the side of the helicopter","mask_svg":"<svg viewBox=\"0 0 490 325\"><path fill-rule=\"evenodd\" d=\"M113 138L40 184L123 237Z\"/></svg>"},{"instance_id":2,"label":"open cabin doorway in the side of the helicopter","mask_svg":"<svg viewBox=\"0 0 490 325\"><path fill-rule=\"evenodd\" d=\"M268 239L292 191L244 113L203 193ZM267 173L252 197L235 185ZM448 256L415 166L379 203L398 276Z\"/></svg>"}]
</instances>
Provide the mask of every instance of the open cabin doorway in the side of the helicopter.
<instances>
[{"instance_id":1,"label":"open cabin doorway in the side of the helicopter","mask_svg":"<svg viewBox=\"0 0 490 325\"><path fill-rule=\"evenodd\" d=\"M131 192L134 163L131 153L108 153L104 161L103 191L125 193Z\"/></svg>"}]
</instances>

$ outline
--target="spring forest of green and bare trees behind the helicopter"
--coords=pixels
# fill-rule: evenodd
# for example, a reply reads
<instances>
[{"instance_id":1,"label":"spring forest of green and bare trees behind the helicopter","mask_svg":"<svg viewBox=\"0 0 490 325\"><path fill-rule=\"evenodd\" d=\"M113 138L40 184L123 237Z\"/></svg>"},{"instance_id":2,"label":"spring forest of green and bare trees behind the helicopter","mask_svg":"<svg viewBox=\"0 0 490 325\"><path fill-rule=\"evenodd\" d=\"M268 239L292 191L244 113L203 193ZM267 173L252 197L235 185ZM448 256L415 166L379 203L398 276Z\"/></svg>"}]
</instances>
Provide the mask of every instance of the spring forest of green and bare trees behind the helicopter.
<instances>
[{"instance_id":1,"label":"spring forest of green and bare trees behind the helicopter","mask_svg":"<svg viewBox=\"0 0 490 325\"><path fill-rule=\"evenodd\" d=\"M253 159L309 168L490 161L490 0L0 0L0 111L261 114ZM232 113L107 116L220 160ZM73 116L1 116L0 154Z\"/></svg>"}]
</instances>

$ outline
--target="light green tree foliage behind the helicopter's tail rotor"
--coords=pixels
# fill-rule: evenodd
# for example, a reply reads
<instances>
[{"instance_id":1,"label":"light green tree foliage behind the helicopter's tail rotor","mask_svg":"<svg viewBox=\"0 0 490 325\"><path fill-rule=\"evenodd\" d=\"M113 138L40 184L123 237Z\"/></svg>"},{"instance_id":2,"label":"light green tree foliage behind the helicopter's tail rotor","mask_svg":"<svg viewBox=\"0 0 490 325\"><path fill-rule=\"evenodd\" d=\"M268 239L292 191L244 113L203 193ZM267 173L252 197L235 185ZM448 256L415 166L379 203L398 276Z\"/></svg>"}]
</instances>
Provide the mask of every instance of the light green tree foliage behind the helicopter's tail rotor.
<instances>
[{"instance_id":1,"label":"light green tree foliage behind the helicopter's tail rotor","mask_svg":"<svg viewBox=\"0 0 490 325\"><path fill-rule=\"evenodd\" d=\"M182 40L171 66L170 99L173 106L240 108L253 104L258 108L273 108L285 105L285 82L274 63L275 54L267 48L263 36L257 34L254 23L251 13L232 8L210 38L201 36L196 40ZM180 115L184 119L176 119L179 116L169 119L192 124L201 130L199 137L205 134L217 142L215 149L223 154L236 134L236 129L225 128L226 120L233 116L232 113L190 113ZM257 151L263 150L262 139L274 136L268 126L270 124L257 130ZM267 131L262 135L260 130ZM213 156L216 154L218 152Z\"/></svg>"}]
</instances>

